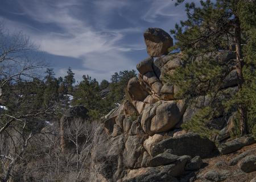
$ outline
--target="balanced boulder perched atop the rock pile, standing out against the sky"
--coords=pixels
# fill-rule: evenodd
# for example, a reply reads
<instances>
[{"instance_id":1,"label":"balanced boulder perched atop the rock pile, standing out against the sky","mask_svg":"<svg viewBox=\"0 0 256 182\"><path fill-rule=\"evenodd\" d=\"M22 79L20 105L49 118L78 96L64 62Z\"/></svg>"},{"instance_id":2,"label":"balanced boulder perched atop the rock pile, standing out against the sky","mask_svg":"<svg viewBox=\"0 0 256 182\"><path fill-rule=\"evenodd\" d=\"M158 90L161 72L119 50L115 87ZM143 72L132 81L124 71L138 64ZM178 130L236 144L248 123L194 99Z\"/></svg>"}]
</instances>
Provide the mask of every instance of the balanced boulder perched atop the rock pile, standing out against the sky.
<instances>
[{"instance_id":1,"label":"balanced boulder perched atop the rock pile, standing out against the sky","mask_svg":"<svg viewBox=\"0 0 256 182\"><path fill-rule=\"evenodd\" d=\"M147 53L151 57L168 54L168 48L174 45L172 37L160 28L148 28L143 36L147 46Z\"/></svg>"}]
</instances>

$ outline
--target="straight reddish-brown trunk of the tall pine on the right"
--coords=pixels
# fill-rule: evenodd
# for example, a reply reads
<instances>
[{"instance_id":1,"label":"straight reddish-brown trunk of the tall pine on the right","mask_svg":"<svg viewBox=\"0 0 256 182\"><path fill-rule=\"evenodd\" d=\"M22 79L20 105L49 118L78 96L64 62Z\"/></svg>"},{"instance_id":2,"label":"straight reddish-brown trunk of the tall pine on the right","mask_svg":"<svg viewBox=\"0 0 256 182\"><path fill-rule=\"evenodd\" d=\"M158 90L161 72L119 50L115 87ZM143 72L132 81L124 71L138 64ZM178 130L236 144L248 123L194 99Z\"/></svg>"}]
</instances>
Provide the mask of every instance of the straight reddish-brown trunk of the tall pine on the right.
<instances>
[{"instance_id":1,"label":"straight reddish-brown trunk of the tall pine on the right","mask_svg":"<svg viewBox=\"0 0 256 182\"><path fill-rule=\"evenodd\" d=\"M236 69L238 75L238 89L242 88L244 82L242 75L242 51L241 51L241 28L240 28L240 19L237 15L234 15L234 33L235 33L235 42L236 42ZM248 123L247 123L247 106L240 104L239 105L239 115L240 115L240 136L249 134Z\"/></svg>"}]
</instances>

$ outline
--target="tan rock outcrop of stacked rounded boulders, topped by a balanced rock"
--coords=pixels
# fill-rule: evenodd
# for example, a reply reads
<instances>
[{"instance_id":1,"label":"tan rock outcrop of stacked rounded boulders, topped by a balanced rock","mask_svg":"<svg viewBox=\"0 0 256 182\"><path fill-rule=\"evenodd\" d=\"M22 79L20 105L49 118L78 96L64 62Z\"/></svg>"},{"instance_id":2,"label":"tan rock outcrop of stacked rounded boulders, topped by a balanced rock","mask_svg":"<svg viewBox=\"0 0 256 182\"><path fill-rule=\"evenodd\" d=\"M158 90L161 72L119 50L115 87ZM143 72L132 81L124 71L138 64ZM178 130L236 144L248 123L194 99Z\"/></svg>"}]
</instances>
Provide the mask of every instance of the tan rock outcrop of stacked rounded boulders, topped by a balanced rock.
<instances>
[{"instance_id":1,"label":"tan rock outcrop of stacked rounded boulders, topped by a balanced rock","mask_svg":"<svg viewBox=\"0 0 256 182\"><path fill-rule=\"evenodd\" d=\"M149 28L144 32L144 39L151 57L137 65L138 78L132 78L128 83L131 102L126 100L123 103L123 113L121 109L115 109L105 116L105 132L112 138L104 147L108 156L117 160L113 175L105 180L178 181L175 177L181 176L185 170L199 170L203 164L202 159L213 155L214 151L218 153L210 139L200 138L196 133L184 132L181 124L189 122L198 109L188 108L186 100L174 101L174 95L179 88L163 83L164 72L173 74L176 67L185 64L183 53L163 56L168 53L168 48L173 43L170 35L162 29ZM216 59L230 60L234 56L231 51L223 50L216 55ZM153 57L157 58L154 60ZM225 79L225 87L236 90L236 71L232 71ZM204 101L202 99L198 106L209 102L209 98ZM230 113L225 118L213 120L216 129L222 133L222 136L214 136L218 141L230 137L229 132L234 127L234 115ZM252 136L247 138L250 142L243 146L254 142ZM241 143L243 142L240 141ZM237 150L241 147L242 145L238 146ZM233 150L231 151L234 152ZM228 178L228 174L224 175L224 180ZM195 175L186 177L184 179L187 181L193 177L196 179Z\"/></svg>"}]
</instances>

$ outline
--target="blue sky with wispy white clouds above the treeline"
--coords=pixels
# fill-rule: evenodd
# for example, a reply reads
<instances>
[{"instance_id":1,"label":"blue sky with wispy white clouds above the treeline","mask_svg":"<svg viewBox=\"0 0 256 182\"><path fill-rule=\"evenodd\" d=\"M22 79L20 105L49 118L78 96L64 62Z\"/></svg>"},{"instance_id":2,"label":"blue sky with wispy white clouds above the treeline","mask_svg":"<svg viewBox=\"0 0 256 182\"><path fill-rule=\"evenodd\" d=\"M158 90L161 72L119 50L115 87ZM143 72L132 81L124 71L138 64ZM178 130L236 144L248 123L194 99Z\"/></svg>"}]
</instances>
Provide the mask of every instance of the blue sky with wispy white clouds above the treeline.
<instances>
[{"instance_id":1,"label":"blue sky with wispy white clouds above the treeline","mask_svg":"<svg viewBox=\"0 0 256 182\"><path fill-rule=\"evenodd\" d=\"M143 32L170 33L185 19L184 5L171 0L0 0L5 28L22 30L40 46L56 78L71 67L79 82L82 75L100 83L136 70L148 57Z\"/></svg>"}]
</instances>

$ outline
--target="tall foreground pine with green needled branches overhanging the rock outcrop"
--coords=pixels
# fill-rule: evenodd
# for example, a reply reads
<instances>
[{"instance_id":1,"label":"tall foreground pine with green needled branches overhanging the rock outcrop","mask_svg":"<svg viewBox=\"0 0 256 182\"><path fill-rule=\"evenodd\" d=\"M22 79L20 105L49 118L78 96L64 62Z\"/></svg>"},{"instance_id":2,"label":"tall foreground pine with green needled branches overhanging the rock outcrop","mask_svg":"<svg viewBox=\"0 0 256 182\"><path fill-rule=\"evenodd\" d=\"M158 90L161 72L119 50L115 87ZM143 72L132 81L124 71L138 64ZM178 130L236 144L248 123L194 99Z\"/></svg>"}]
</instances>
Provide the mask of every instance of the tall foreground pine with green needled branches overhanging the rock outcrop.
<instances>
[{"instance_id":1,"label":"tall foreground pine with green needled branches overhanging the rock outcrop","mask_svg":"<svg viewBox=\"0 0 256 182\"><path fill-rule=\"evenodd\" d=\"M179 0L177 3L183 1ZM241 0L218 0L216 3L212 3L210 0L200 2L201 7L196 7L193 2L186 3L188 20L181 21L181 26L176 24L176 29L171 30L177 40L171 50L183 50L183 59L186 64L177 68L174 75L166 74L166 82L180 87L180 92L176 95L177 98L193 96L193 100L196 100L195 98L202 94L212 98L212 103L207 108L201 109L200 113L195 116L197 118L193 117L190 124L184 125L187 129L195 127L198 129L199 124L197 123L197 126L195 123L193 124L196 120L200 120L200 125L204 127L207 121L220 116L220 113L216 113L217 108L220 107L220 98L230 98L230 91L223 89L225 86L224 78L232 70L237 70L240 90L237 97L241 98L241 91L245 83L243 73L245 54L242 54L241 45L246 44L246 36L243 36L246 31L241 26L241 18L249 15L249 12L246 12L249 4L255 7L254 2L249 3L249 1ZM247 16L242 17L242 14ZM250 20L255 22L255 16ZM233 50L236 59L229 60L229 62L217 59L216 55L221 56L229 53L231 43L236 45ZM240 134L243 136L249 133L247 105L241 101L236 104L240 116Z\"/></svg>"}]
</instances>

